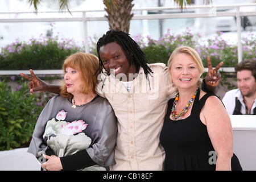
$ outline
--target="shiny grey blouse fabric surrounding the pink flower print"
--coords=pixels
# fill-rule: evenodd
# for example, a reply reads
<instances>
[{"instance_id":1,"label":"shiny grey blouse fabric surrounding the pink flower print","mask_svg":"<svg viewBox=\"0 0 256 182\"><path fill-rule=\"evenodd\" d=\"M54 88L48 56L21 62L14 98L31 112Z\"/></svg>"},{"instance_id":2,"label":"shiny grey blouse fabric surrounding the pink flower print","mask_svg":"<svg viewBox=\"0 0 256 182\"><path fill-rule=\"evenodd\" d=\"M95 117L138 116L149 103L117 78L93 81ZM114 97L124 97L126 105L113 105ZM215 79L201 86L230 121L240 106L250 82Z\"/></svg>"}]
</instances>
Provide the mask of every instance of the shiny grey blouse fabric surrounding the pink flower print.
<instances>
[{"instance_id":1,"label":"shiny grey blouse fabric surrounding the pink flower print","mask_svg":"<svg viewBox=\"0 0 256 182\"><path fill-rule=\"evenodd\" d=\"M114 162L114 148L117 137L117 119L108 100L96 96L88 104L72 108L68 98L55 96L48 101L36 122L28 152L39 157L39 153L47 150L47 143L43 139L47 121L56 118L59 111L67 112L65 121L82 119L88 124L85 135L92 139L86 149L90 158L102 167L111 166ZM57 121L57 119L56 119Z\"/></svg>"}]
</instances>

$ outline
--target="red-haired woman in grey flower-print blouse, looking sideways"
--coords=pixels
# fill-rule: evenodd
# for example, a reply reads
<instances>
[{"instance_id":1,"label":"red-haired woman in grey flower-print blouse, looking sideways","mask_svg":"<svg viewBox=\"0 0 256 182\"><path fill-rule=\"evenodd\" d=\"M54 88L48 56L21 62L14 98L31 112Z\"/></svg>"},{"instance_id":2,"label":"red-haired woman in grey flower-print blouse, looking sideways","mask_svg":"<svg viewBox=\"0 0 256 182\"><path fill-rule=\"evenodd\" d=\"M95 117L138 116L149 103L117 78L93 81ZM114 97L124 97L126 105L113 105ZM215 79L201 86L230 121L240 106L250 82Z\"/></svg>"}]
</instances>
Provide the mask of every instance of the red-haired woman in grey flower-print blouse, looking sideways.
<instances>
[{"instance_id":1,"label":"red-haired woman in grey flower-print blouse, looking sideways","mask_svg":"<svg viewBox=\"0 0 256 182\"><path fill-rule=\"evenodd\" d=\"M63 71L60 95L40 114L28 152L38 158L45 154L46 171L108 169L115 164L117 121L109 102L95 92L98 58L75 53Z\"/></svg>"}]
</instances>

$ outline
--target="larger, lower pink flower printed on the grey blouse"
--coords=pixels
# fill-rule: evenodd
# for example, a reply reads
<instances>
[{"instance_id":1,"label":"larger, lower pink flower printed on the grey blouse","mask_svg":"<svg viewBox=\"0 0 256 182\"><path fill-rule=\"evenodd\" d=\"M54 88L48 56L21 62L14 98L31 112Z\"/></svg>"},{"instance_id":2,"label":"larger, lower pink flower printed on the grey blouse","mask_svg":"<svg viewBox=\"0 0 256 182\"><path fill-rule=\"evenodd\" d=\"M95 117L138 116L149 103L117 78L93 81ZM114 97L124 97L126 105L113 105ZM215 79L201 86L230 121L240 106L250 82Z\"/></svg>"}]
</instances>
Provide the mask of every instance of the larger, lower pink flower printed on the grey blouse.
<instances>
[{"instance_id":1,"label":"larger, lower pink flower printed on the grey blouse","mask_svg":"<svg viewBox=\"0 0 256 182\"><path fill-rule=\"evenodd\" d=\"M79 121L68 122L67 125L61 125L61 133L64 135L75 135L76 133L85 130L88 124L86 124L82 119Z\"/></svg>"}]
</instances>

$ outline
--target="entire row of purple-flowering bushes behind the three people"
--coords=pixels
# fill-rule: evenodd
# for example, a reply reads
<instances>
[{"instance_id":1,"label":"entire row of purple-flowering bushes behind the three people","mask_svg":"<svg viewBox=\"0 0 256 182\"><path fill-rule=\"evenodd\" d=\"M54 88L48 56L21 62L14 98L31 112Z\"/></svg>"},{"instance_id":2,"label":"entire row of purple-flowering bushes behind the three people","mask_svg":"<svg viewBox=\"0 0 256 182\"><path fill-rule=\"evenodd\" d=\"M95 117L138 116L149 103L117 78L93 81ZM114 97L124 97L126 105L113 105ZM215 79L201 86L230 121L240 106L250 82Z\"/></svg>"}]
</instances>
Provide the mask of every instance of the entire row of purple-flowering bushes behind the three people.
<instances>
[{"instance_id":1,"label":"entire row of purple-flowering bushes behind the three people","mask_svg":"<svg viewBox=\"0 0 256 182\"><path fill-rule=\"evenodd\" d=\"M140 35L133 39L146 54L149 63L165 63L174 49L179 46L190 46L196 49L207 67L207 56L211 57L213 65L224 61L223 67L234 67L237 64L237 45L229 43L222 38L222 32L217 32L213 38L201 39L200 34L192 34L187 29L181 34L171 34L170 30L160 40L150 36L144 38ZM89 38L90 53L97 56L96 43L98 38ZM256 60L256 35L248 34L242 38L243 60ZM61 39L58 36L40 36L38 40L30 39L28 42L19 42L2 48L0 53L1 70L20 69L61 69L63 60L72 53L82 51L81 46L71 39Z\"/></svg>"}]
</instances>

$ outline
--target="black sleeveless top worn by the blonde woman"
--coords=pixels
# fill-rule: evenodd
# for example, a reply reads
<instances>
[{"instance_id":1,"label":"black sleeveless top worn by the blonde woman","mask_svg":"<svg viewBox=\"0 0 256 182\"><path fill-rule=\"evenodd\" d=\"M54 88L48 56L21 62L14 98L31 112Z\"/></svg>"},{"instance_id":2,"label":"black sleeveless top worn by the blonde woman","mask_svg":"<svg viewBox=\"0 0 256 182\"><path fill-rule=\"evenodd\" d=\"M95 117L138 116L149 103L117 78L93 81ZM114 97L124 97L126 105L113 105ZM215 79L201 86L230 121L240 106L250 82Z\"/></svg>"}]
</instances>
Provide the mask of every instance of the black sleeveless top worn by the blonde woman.
<instances>
[{"instance_id":1,"label":"black sleeveless top worn by the blonde woman","mask_svg":"<svg viewBox=\"0 0 256 182\"><path fill-rule=\"evenodd\" d=\"M207 126L199 117L207 98L215 95L207 93L200 101L199 96L200 89L191 108L191 115L178 121L170 119L174 98L168 101L168 109L160 133L160 144L166 152L164 170L214 171L216 169L217 156ZM232 158L232 170L242 170L236 155Z\"/></svg>"}]
</instances>

